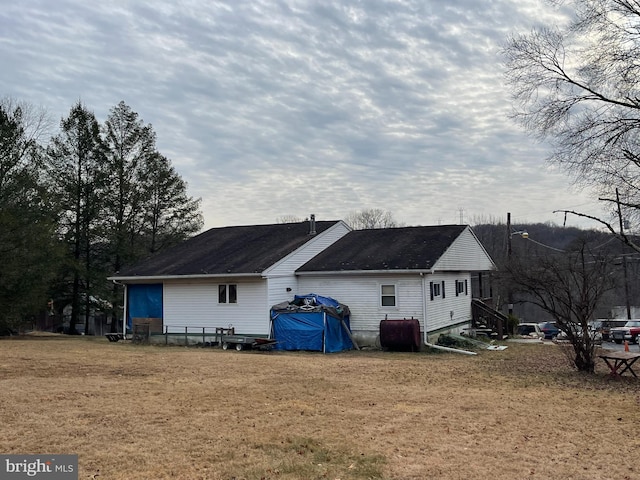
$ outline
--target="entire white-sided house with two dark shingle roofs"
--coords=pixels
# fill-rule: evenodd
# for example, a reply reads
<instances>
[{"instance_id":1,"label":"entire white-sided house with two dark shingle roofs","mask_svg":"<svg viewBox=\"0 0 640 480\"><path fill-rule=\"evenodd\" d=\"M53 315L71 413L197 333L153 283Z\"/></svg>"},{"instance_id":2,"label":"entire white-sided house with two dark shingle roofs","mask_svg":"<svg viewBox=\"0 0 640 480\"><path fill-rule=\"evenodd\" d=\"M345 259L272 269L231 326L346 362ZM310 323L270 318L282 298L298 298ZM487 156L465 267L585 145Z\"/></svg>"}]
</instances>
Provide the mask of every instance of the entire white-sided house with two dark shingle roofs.
<instances>
[{"instance_id":1,"label":"entire white-sided house with two dark shingle roofs","mask_svg":"<svg viewBox=\"0 0 640 480\"><path fill-rule=\"evenodd\" d=\"M472 274L495 265L469 226L351 229L343 221L213 228L111 277L125 285L128 328L233 327L268 335L272 305L316 293L349 306L374 344L381 320L418 319L425 339L471 321Z\"/></svg>"}]
</instances>

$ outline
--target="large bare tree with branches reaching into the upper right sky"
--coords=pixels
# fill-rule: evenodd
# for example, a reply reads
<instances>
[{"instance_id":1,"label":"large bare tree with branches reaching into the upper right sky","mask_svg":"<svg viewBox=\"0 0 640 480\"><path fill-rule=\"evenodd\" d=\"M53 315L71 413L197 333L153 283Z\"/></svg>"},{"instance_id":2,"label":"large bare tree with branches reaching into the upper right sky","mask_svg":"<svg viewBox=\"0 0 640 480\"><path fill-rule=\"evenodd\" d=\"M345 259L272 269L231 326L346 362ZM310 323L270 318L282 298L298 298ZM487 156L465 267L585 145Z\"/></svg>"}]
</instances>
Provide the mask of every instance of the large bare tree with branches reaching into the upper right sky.
<instances>
[{"instance_id":1,"label":"large bare tree with branches reaching into the upper right sky","mask_svg":"<svg viewBox=\"0 0 640 480\"><path fill-rule=\"evenodd\" d=\"M640 251L622 228L640 217L640 3L570 4L576 15L566 25L505 46L515 117L552 145L551 162L599 190L615 220L561 211L600 222Z\"/></svg>"}]
</instances>

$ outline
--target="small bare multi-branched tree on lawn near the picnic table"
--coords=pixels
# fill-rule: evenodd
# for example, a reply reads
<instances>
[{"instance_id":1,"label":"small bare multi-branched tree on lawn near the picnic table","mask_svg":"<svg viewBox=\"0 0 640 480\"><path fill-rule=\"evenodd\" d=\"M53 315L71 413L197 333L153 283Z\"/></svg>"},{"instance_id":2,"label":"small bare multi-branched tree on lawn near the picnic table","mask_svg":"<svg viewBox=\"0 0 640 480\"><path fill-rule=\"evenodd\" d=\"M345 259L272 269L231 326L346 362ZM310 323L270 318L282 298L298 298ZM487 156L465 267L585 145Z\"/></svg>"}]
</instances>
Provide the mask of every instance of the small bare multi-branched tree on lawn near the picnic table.
<instances>
[{"instance_id":1,"label":"small bare multi-branched tree on lawn near the picnic table","mask_svg":"<svg viewBox=\"0 0 640 480\"><path fill-rule=\"evenodd\" d=\"M535 256L515 257L506 263L502 275L566 333L576 368L593 373L597 344L590 322L605 295L615 288L612 268L610 258L579 240L570 251L538 249Z\"/></svg>"}]
</instances>

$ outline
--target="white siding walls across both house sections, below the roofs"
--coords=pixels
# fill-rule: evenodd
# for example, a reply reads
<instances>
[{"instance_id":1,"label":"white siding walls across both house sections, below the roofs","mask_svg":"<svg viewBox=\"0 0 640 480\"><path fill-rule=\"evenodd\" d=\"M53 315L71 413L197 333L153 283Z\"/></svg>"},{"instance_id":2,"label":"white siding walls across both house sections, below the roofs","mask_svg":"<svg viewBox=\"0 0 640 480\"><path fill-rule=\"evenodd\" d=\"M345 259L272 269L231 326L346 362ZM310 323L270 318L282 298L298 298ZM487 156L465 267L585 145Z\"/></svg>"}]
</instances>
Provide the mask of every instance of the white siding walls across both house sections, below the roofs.
<instances>
[{"instance_id":1,"label":"white siding walls across both house sections, below the roofs","mask_svg":"<svg viewBox=\"0 0 640 480\"><path fill-rule=\"evenodd\" d=\"M271 279L278 285L282 279ZM288 282L288 279L286 279ZM456 280L467 281L466 294L456 295ZM430 283L442 285L445 296L431 300ZM284 285L280 287L285 291ZM238 303L219 304L218 285L233 283L238 286ZM395 285L396 306L381 305L381 285ZM270 286L271 288L273 285ZM230 279L228 281L172 281L164 284L164 326L170 332L181 333L184 327L207 327L213 332L216 327L234 327L236 333L268 335L270 330L267 282L261 279ZM415 318L429 332L471 321L471 278L469 273L439 273L420 276L405 275L305 275L298 279L298 288L285 292L285 300L294 294L316 293L335 298L349 306L351 328L354 333L377 335L380 321L388 319ZM423 304L426 302L426 306ZM282 301L282 300L281 300ZM277 302L275 302L277 303Z\"/></svg>"}]
</instances>

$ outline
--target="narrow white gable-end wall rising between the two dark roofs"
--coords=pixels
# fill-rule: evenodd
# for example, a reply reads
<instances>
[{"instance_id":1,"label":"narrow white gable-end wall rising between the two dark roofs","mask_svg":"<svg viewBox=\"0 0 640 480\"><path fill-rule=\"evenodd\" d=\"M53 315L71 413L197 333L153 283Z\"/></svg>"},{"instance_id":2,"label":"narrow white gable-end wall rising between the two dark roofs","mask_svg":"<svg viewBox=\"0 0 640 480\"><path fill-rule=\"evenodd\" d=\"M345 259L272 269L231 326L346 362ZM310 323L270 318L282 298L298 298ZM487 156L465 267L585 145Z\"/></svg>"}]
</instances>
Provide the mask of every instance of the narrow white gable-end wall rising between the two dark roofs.
<instances>
[{"instance_id":1,"label":"narrow white gable-end wall rising between the two dark roofs","mask_svg":"<svg viewBox=\"0 0 640 480\"><path fill-rule=\"evenodd\" d=\"M267 278L268 283L268 307L271 308L271 306L278 303L289 301L296 293L299 293L298 279L294 274L295 270L350 231L347 224L342 221L338 222L326 231L310 237L309 242L265 270L263 276ZM287 291L287 289L290 290Z\"/></svg>"}]
</instances>

